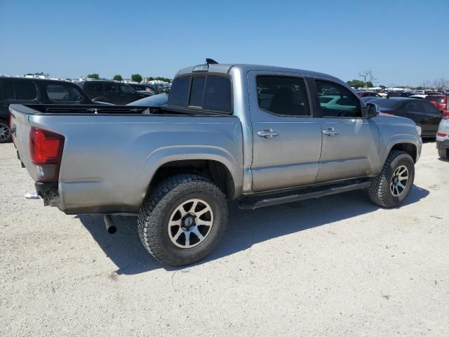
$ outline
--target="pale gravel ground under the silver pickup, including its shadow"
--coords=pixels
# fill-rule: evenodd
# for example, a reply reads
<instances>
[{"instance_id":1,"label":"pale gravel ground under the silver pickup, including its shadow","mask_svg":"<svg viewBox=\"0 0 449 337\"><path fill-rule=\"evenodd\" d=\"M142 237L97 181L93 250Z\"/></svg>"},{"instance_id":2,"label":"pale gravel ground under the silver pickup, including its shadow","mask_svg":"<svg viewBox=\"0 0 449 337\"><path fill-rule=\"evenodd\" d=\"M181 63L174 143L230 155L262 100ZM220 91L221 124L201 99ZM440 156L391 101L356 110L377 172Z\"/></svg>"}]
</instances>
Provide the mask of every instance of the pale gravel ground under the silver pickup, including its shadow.
<instances>
[{"instance_id":1,"label":"pale gravel ground under the silver pickup, including its shadow","mask_svg":"<svg viewBox=\"0 0 449 337\"><path fill-rule=\"evenodd\" d=\"M243 211L196 265L163 267L133 217L24 199L0 144L0 336L449 336L449 162L424 144L399 209L363 192Z\"/></svg>"}]
</instances>

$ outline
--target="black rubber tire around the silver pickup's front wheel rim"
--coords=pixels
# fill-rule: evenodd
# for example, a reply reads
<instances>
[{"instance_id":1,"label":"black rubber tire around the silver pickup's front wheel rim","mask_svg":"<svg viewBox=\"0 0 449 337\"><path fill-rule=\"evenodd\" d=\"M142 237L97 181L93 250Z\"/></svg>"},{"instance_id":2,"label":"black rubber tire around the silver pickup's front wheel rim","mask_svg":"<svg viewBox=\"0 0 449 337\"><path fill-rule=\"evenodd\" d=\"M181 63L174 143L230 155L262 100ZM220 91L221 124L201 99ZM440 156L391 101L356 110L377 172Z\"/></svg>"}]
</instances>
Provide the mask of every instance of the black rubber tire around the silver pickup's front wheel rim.
<instances>
[{"instance_id":1,"label":"black rubber tire around the silver pickup's front wheel rim","mask_svg":"<svg viewBox=\"0 0 449 337\"><path fill-rule=\"evenodd\" d=\"M401 167L406 166L408 170L408 180L406 181L406 187L398 195L394 195L391 191L391 183L394 181L394 173ZM413 162L410 154L402 151L393 150L390 152L387 160L385 161L382 171L376 178L373 178L370 187L368 188L368 194L371 201L375 204L391 208L396 207L406 199L408 193L412 189L413 180L415 179L415 163Z\"/></svg>"}]
</instances>

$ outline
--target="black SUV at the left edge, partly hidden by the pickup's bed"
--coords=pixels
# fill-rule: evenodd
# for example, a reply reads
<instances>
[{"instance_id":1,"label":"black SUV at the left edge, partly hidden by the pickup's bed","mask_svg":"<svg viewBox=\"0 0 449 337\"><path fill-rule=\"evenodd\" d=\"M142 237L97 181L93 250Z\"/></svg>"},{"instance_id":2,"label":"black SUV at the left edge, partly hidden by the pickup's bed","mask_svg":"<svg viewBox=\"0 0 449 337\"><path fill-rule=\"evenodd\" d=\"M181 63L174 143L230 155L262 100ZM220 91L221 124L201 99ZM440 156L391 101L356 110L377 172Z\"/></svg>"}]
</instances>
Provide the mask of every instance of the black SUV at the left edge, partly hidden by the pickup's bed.
<instances>
[{"instance_id":1,"label":"black SUV at the left edge, partly hidden by the pickup's bed","mask_svg":"<svg viewBox=\"0 0 449 337\"><path fill-rule=\"evenodd\" d=\"M10 104L93 104L79 86L53 79L0 77L0 143L11 140Z\"/></svg>"}]
</instances>

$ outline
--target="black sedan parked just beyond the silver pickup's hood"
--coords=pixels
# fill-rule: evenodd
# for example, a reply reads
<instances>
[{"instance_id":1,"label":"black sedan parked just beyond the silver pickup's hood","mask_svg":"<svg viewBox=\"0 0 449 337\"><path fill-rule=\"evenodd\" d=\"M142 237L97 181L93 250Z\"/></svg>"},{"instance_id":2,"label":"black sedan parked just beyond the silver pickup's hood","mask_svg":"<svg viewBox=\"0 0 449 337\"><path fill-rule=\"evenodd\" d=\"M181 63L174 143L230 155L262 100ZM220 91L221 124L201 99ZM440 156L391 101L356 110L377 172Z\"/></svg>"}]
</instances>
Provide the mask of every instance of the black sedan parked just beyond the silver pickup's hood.
<instances>
[{"instance_id":1,"label":"black sedan parked just beyond the silver pickup's hood","mask_svg":"<svg viewBox=\"0 0 449 337\"><path fill-rule=\"evenodd\" d=\"M426 100L401 97L375 98L370 100L370 103L375 103L384 114L394 114L415 121L422 128L422 138L436 137L438 124L443 117L441 111Z\"/></svg>"}]
</instances>

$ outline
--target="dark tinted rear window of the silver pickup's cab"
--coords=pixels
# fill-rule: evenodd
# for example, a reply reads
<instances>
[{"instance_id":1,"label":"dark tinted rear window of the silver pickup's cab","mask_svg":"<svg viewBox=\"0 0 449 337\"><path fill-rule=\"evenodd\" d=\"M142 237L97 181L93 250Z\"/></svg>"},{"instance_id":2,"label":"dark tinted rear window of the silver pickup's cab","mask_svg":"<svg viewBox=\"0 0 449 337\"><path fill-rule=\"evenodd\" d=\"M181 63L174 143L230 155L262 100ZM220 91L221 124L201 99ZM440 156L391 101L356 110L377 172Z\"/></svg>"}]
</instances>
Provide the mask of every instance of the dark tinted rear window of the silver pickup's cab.
<instances>
[{"instance_id":1,"label":"dark tinted rear window of the silver pickup's cab","mask_svg":"<svg viewBox=\"0 0 449 337\"><path fill-rule=\"evenodd\" d=\"M215 74L177 77L168 106L232 114L231 79Z\"/></svg>"}]
</instances>

